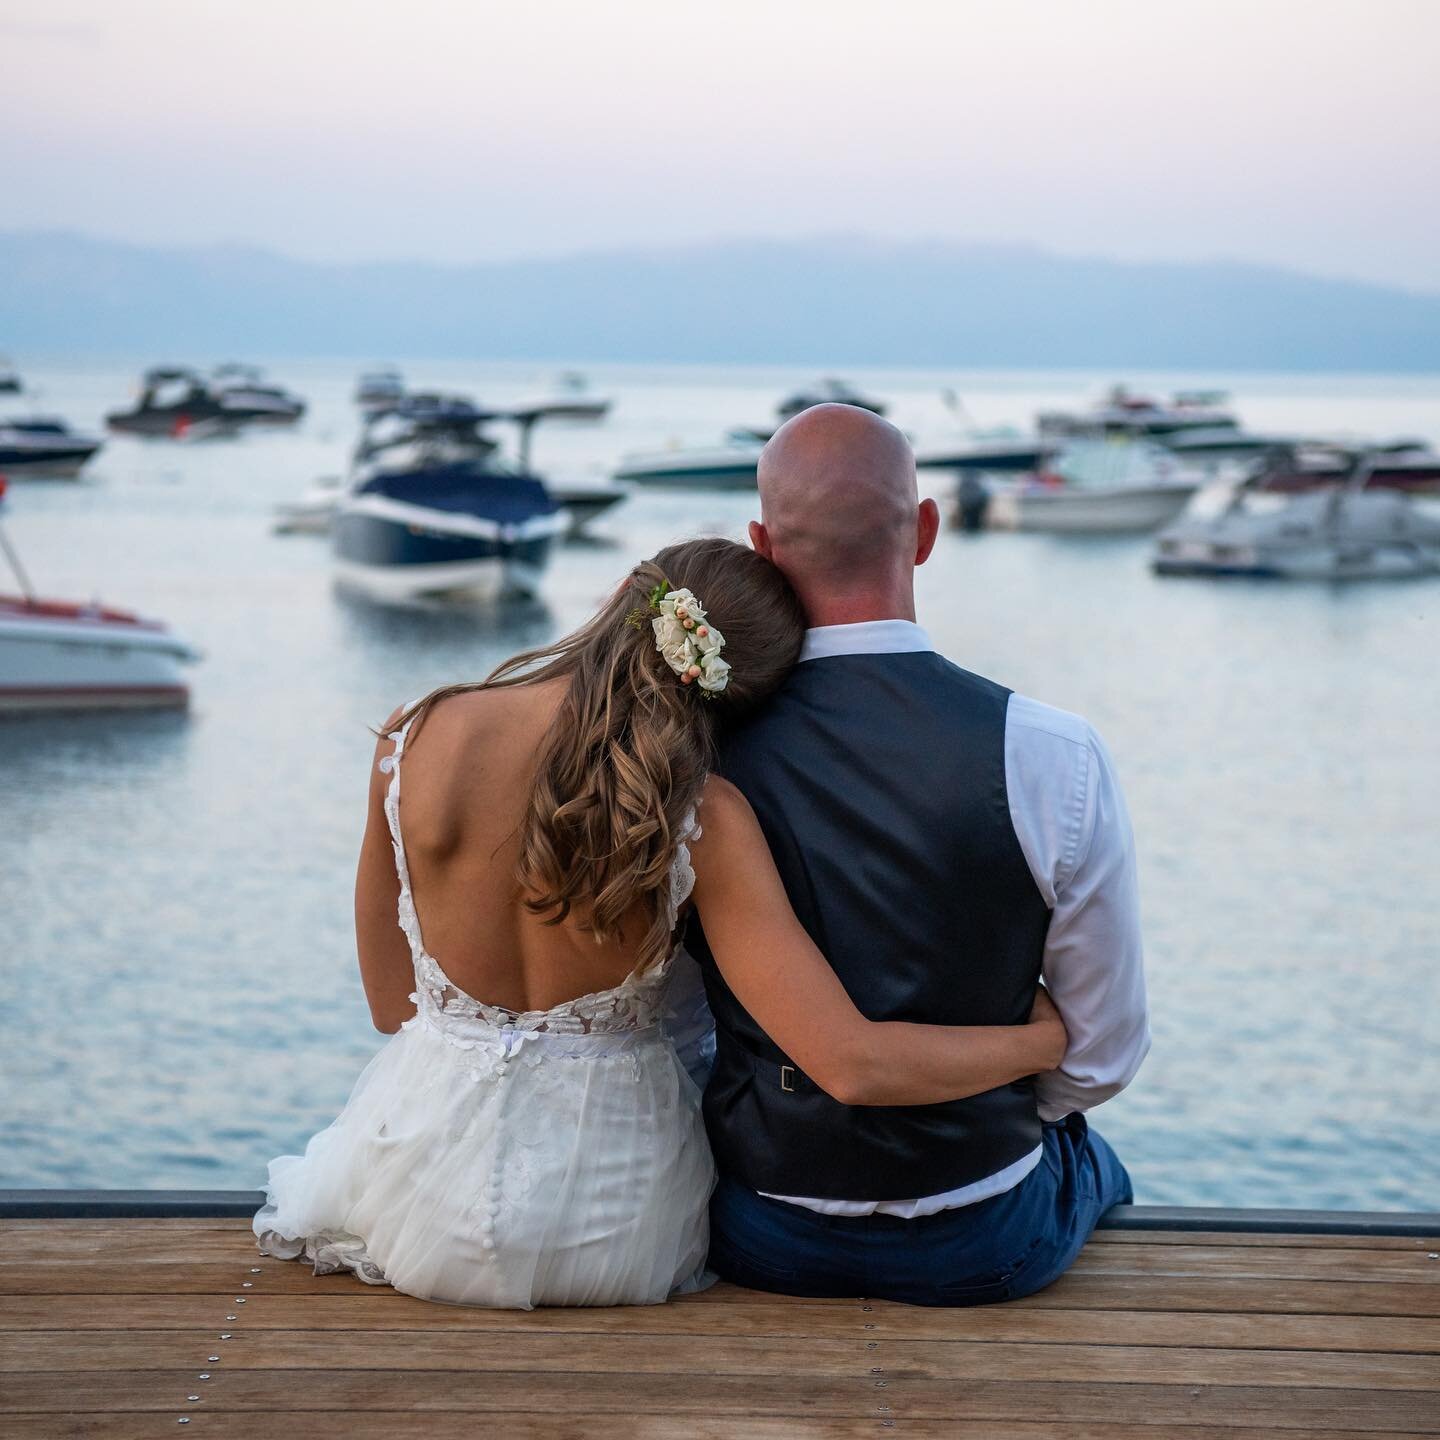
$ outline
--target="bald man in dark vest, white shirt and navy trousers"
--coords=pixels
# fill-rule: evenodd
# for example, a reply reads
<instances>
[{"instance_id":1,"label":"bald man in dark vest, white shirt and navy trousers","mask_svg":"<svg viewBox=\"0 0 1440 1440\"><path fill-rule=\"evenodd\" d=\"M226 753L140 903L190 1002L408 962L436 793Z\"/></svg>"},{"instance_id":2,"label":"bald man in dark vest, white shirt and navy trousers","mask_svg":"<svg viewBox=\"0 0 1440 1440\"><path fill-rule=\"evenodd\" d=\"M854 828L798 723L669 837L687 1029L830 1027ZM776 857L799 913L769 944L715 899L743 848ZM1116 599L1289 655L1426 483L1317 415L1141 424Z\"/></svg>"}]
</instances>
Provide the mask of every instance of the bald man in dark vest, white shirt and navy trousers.
<instances>
[{"instance_id":1,"label":"bald man in dark vest, white shirt and navy trousers","mask_svg":"<svg viewBox=\"0 0 1440 1440\"><path fill-rule=\"evenodd\" d=\"M1125 802L1084 720L959 670L914 624L940 520L894 426L804 410L759 480L750 540L812 628L720 769L796 914L873 1020L1017 1024L1043 975L1070 1047L1057 1071L968 1100L842 1106L746 1014L693 924L716 1018L710 1263L789 1295L1028 1295L1132 1198L1084 1119L1149 1048Z\"/></svg>"}]
</instances>

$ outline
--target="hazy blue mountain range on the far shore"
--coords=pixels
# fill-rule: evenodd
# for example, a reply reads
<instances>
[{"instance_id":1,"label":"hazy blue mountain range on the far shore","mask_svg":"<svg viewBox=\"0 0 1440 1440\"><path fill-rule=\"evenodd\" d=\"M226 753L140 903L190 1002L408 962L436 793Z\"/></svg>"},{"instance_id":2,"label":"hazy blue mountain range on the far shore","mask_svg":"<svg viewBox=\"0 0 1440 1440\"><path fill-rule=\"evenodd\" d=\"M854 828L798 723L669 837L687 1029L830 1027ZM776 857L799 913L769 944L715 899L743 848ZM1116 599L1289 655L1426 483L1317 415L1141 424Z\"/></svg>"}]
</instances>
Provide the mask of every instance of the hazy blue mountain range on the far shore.
<instances>
[{"instance_id":1,"label":"hazy blue mountain range on the far shore","mask_svg":"<svg viewBox=\"0 0 1440 1440\"><path fill-rule=\"evenodd\" d=\"M727 240L480 265L0 233L0 348L955 367L1440 370L1440 295L1231 262Z\"/></svg>"}]
</instances>

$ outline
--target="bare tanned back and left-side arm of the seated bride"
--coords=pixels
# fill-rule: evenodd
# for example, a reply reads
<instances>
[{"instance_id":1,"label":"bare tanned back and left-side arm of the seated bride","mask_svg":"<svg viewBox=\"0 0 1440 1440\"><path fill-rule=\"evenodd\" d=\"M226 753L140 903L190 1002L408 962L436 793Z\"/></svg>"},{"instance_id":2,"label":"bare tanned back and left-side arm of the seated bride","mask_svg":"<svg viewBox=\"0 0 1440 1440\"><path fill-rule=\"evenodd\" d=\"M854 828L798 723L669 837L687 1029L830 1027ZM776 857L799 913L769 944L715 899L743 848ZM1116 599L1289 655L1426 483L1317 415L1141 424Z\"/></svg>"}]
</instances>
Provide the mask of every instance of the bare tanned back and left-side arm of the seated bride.
<instances>
[{"instance_id":1,"label":"bare tanned back and left-side arm of the seated bride","mask_svg":"<svg viewBox=\"0 0 1440 1440\"><path fill-rule=\"evenodd\" d=\"M523 904L516 863L526 804L563 693L564 681L543 681L451 696L429 707L405 746L400 829L425 949L459 989L517 1012L619 985L635 968L645 930L636 914L619 936L596 942L579 917L546 924ZM392 750L382 740L377 759ZM376 765L356 924L372 1008L383 998L377 1020L393 1017L399 1025L413 1005L410 956L395 922L399 881L386 786Z\"/></svg>"}]
</instances>

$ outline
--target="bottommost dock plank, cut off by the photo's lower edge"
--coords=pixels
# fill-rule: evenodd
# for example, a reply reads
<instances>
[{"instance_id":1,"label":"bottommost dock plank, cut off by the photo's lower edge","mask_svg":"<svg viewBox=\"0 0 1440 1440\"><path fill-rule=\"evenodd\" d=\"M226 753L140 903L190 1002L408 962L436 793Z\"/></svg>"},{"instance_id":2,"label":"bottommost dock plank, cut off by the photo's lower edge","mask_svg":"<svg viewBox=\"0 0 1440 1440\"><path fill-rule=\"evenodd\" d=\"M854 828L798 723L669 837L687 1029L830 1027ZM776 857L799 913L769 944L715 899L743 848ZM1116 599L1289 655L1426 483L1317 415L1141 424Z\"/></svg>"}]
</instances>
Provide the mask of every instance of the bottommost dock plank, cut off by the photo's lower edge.
<instances>
[{"instance_id":1,"label":"bottommost dock plank, cut off by the photo's lower edge","mask_svg":"<svg viewBox=\"0 0 1440 1440\"><path fill-rule=\"evenodd\" d=\"M190 1407L190 1426L177 1430L186 1440L212 1436L215 1440L256 1440L253 1413L206 1414L203 1407ZM487 1417L497 1436L504 1440L876 1440L878 1436L900 1436L904 1440L956 1440L956 1427L948 1420L897 1418L881 1428L874 1418L867 1420L805 1420L786 1417L768 1420L752 1417L744 1430L737 1431L727 1417L710 1418L687 1416L683 1428L674 1417L632 1416L569 1420L564 1416L536 1416L524 1411L491 1411ZM477 1440L475 1420L468 1414L402 1414L387 1411L372 1416L357 1411L317 1414L315 1411L266 1411L265 1436L300 1431L305 1440ZM154 1440L156 1417L145 1414L120 1416L12 1416L7 1417L6 1440ZM1057 1430L1050 1424L1007 1424L976 1440L1274 1440L1274 1430L1251 1426L1117 1426L1066 1424ZM1395 1430L1331 1430L1326 1440L1424 1440L1418 1431Z\"/></svg>"}]
</instances>

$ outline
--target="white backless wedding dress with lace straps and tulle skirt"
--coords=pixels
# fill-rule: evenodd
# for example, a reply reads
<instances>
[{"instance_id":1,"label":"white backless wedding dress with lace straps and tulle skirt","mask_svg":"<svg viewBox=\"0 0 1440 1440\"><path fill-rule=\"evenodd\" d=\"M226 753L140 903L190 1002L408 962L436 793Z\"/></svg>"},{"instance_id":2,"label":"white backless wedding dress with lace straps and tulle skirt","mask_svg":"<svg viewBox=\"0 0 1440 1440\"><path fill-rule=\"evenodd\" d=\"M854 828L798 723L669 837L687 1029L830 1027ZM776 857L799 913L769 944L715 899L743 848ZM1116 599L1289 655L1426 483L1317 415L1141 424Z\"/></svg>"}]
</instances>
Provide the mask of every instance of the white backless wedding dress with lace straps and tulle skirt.
<instances>
[{"instance_id":1,"label":"white backless wedding dress with lace straps and tulle skirt","mask_svg":"<svg viewBox=\"0 0 1440 1440\"><path fill-rule=\"evenodd\" d=\"M416 1014L305 1153L271 1162L261 1250L456 1305L654 1305L701 1289L714 1162L665 1028L675 955L526 1014L451 984L420 937L400 835L408 732L380 768ZM693 884L681 844L672 922Z\"/></svg>"}]
</instances>

